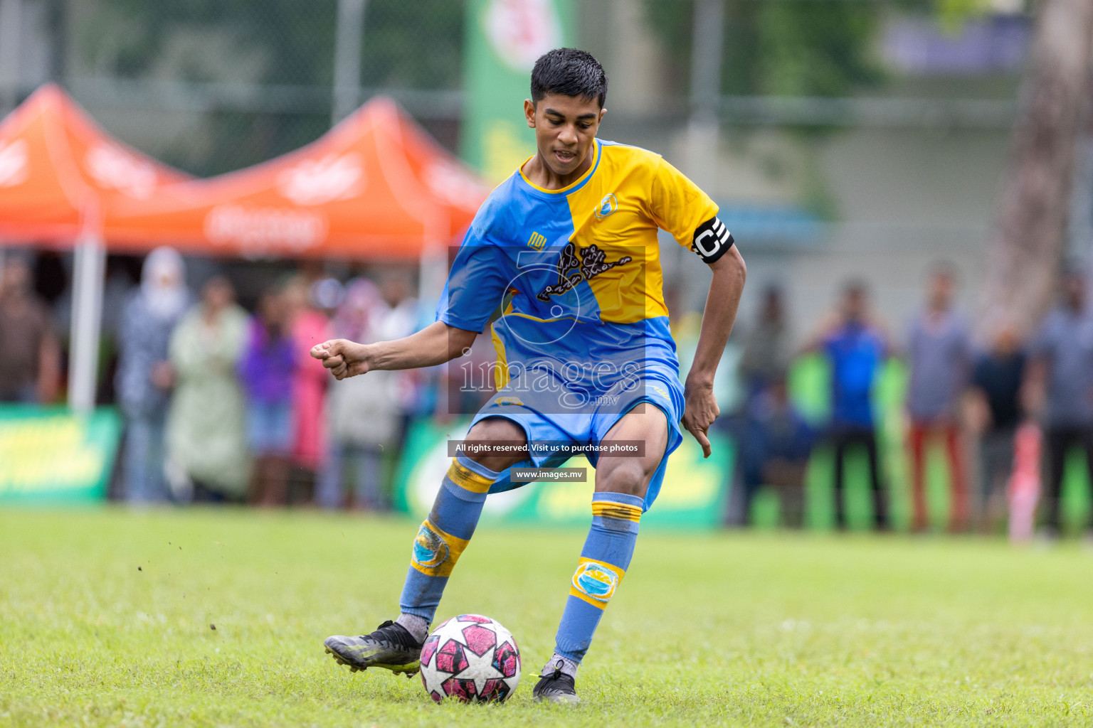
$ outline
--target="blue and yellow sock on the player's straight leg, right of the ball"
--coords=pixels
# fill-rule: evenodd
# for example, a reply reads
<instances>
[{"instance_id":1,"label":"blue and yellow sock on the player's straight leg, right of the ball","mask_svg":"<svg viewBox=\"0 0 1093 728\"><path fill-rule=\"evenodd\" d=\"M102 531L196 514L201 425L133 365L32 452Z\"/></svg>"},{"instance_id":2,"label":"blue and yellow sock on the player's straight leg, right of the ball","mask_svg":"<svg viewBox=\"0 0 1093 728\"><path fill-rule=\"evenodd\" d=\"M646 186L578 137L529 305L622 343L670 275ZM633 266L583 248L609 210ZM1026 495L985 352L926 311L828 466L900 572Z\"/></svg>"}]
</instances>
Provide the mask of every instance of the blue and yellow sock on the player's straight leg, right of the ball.
<instances>
[{"instance_id":1,"label":"blue and yellow sock on the player's straight leg, right of the ball","mask_svg":"<svg viewBox=\"0 0 1093 728\"><path fill-rule=\"evenodd\" d=\"M630 566L644 504L643 499L627 493L592 496L592 526L569 584L554 656L543 673L553 671L559 661L563 672L576 672L592 642L603 609Z\"/></svg>"}]
</instances>

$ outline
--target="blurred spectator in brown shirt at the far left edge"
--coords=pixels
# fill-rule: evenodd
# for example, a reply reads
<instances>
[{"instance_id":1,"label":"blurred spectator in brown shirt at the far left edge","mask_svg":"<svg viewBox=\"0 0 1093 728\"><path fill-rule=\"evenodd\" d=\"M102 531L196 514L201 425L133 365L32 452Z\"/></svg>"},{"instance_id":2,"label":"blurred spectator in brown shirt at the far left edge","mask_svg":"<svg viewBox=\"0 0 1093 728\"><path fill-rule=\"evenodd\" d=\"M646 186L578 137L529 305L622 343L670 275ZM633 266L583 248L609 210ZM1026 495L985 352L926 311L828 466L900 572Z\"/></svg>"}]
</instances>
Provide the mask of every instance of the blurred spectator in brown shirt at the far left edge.
<instances>
[{"instance_id":1,"label":"blurred spectator in brown shirt at the far left edge","mask_svg":"<svg viewBox=\"0 0 1093 728\"><path fill-rule=\"evenodd\" d=\"M10 254L0 273L0 402L48 404L60 380L60 344L31 287L31 266Z\"/></svg>"}]
</instances>

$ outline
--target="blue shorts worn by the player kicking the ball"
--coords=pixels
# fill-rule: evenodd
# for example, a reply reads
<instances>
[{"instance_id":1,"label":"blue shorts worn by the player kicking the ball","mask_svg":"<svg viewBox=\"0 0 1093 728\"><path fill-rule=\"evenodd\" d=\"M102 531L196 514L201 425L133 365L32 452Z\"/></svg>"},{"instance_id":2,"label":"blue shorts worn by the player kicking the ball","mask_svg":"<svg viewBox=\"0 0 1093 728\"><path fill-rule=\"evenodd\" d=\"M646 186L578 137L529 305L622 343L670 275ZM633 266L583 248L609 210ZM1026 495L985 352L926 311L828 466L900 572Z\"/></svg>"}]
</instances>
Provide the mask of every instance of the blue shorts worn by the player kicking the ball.
<instances>
[{"instance_id":1,"label":"blue shorts worn by the player kicking the ball","mask_svg":"<svg viewBox=\"0 0 1093 728\"><path fill-rule=\"evenodd\" d=\"M579 401L578 406L572 404L575 397ZM586 393L565 390L552 393L529 392L521 382L509 382L479 410L471 427L489 417L503 417L518 425L529 443L599 444L626 413L643 402L658 407L668 420L668 446L645 493L645 510L648 511L660 493L668 455L683 442L683 434L680 431L680 420L683 418L683 386L673 367L646 365L637 370L635 379L630 382L619 382L615 386L590 398ZM528 460L513 467L559 467L568 458L569 455L564 453L534 452ZM589 454L588 461L596 467L598 457ZM509 478L510 469L502 472L501 477L490 488L491 493L527 485L522 481L513 482Z\"/></svg>"}]
</instances>

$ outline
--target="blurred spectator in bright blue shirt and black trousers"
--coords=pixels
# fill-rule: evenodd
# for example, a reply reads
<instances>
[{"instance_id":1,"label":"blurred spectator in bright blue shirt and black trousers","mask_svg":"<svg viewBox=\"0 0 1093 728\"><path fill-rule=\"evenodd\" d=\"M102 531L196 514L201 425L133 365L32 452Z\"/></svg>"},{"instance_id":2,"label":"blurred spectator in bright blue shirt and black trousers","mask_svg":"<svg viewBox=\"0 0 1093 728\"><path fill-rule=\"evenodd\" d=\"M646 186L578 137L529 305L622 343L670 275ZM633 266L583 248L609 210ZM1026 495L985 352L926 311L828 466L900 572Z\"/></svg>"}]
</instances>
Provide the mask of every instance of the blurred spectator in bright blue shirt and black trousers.
<instances>
[{"instance_id":1,"label":"blurred spectator in bright blue shirt and black trousers","mask_svg":"<svg viewBox=\"0 0 1093 728\"><path fill-rule=\"evenodd\" d=\"M844 289L837 312L806 346L831 361L831 442L835 455L835 524L846 527L844 506L844 460L854 445L861 445L869 458L873 513L878 530L888 528L888 503L877 450L873 384L892 347L884 329L871 320L865 284L850 282Z\"/></svg>"}]
</instances>

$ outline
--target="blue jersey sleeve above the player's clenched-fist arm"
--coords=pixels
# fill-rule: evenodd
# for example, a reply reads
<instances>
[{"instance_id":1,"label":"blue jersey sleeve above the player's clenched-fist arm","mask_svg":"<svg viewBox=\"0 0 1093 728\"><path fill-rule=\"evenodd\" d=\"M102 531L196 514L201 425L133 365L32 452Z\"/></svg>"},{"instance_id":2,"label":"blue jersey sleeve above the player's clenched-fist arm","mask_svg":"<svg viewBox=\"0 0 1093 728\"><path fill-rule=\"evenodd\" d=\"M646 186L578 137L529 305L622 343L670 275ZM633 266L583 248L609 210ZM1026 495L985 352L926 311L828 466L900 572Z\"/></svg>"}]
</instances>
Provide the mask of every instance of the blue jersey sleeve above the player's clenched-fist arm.
<instances>
[{"instance_id":1,"label":"blue jersey sleeve above the player's clenched-fist arm","mask_svg":"<svg viewBox=\"0 0 1093 728\"><path fill-rule=\"evenodd\" d=\"M482 333L508 285L502 251L474 225L456 252L436 306L436 320Z\"/></svg>"}]
</instances>

